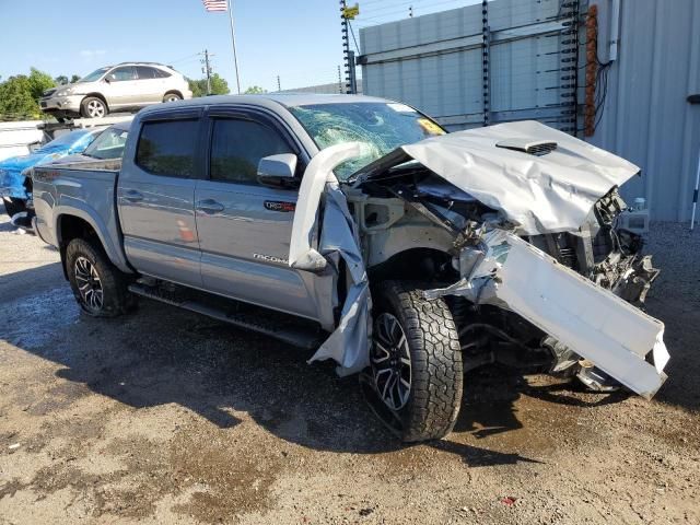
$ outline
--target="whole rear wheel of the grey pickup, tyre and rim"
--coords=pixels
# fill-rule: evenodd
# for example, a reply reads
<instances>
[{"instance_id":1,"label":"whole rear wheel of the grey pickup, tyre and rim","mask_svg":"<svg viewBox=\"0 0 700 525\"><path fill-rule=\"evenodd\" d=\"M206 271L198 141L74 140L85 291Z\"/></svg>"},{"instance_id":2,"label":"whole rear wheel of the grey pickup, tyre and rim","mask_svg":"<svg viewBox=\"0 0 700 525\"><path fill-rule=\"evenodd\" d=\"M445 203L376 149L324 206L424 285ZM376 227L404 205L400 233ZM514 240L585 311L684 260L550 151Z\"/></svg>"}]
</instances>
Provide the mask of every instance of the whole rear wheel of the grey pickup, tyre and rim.
<instances>
[{"instance_id":1,"label":"whole rear wheel of the grey pickup, tyre and rim","mask_svg":"<svg viewBox=\"0 0 700 525\"><path fill-rule=\"evenodd\" d=\"M66 272L80 307L94 317L115 317L133 305L128 279L101 246L73 238L66 248Z\"/></svg>"}]
</instances>

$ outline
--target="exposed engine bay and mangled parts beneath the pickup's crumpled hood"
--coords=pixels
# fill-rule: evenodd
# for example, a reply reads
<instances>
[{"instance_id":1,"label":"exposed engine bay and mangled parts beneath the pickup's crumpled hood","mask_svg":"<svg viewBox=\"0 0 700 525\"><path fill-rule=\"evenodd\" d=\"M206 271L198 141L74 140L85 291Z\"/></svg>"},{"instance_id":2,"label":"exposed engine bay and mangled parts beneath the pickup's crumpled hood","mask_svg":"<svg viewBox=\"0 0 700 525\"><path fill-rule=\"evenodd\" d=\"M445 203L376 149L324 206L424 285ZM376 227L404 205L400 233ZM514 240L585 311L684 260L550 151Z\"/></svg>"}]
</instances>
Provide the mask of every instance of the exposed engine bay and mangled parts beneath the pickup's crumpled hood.
<instances>
[{"instance_id":1,"label":"exposed engine bay and mangled parts beneath the pickup's crumpled hood","mask_svg":"<svg viewBox=\"0 0 700 525\"><path fill-rule=\"evenodd\" d=\"M383 206L380 202L384 199L388 201L385 200ZM396 199L402 202L399 205ZM494 210L440 180L423 166L394 168L385 178L362 185L361 195L355 197L350 191L349 200L351 209L357 206L354 215L361 224L364 252L369 254L381 254L382 249L374 245L390 246L393 243L387 238L396 236L402 229L415 231L415 223L420 222L416 213L448 232L453 241L452 246L445 248L453 255L452 261L445 260L441 266L440 256L427 252L423 260L419 257L411 261L419 268L416 279L428 280L435 285L444 283L445 290L450 290L451 283L464 283L460 275L467 273L475 264L474 259L482 254L479 245L483 244L489 226L494 229L499 220ZM404 205L407 210L397 208ZM578 232L522 235L520 238L598 287L642 306L658 270L653 268L651 256L641 254L643 238L617 226L618 217L626 210L625 201L614 188L596 202ZM387 236L380 233L382 225L390 232ZM427 225L422 229L428 234L430 229ZM439 238L441 233L433 231L428 238ZM370 266L369 271L372 281L373 273L390 273L395 268L390 264L389 268L378 264ZM440 292L427 293L441 295ZM481 298L477 293L450 293L447 296L462 337L465 370L500 362L530 373L575 375L586 386L598 390L611 389L618 384L591 361L509 310L508 304L480 304Z\"/></svg>"}]
</instances>

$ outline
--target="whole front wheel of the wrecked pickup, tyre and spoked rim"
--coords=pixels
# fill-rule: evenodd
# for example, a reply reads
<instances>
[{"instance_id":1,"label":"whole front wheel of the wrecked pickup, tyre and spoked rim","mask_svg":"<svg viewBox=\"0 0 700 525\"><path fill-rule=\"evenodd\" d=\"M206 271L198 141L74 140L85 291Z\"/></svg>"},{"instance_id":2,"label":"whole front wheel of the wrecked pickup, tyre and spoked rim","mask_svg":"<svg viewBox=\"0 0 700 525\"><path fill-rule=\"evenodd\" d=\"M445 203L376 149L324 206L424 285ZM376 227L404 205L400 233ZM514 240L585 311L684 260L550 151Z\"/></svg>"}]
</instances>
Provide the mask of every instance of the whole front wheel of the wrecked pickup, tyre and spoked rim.
<instances>
[{"instance_id":1,"label":"whole front wheel of the wrecked pickup, tyre and spoked rim","mask_svg":"<svg viewBox=\"0 0 700 525\"><path fill-rule=\"evenodd\" d=\"M387 281L378 292L370 362L375 396L393 419L386 422L406 442L444 438L457 419L463 388L450 308L410 283Z\"/></svg>"}]
</instances>

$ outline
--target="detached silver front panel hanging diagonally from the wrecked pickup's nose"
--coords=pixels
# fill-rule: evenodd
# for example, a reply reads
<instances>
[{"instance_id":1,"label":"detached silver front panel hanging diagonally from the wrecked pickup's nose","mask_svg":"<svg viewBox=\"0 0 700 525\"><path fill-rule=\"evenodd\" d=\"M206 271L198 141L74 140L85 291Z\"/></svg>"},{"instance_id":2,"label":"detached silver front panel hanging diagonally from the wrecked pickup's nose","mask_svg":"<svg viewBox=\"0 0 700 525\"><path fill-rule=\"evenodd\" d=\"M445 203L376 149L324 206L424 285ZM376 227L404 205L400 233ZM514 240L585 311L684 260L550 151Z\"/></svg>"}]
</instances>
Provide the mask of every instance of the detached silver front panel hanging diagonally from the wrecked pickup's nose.
<instances>
[{"instance_id":1,"label":"detached silver front panel hanging diagonally from the wrecked pickup's nose","mask_svg":"<svg viewBox=\"0 0 700 525\"><path fill-rule=\"evenodd\" d=\"M512 233L492 230L474 252L469 273L428 295L464 295L515 312L646 398L664 383L669 355L661 320ZM650 352L653 364L645 361Z\"/></svg>"}]
</instances>

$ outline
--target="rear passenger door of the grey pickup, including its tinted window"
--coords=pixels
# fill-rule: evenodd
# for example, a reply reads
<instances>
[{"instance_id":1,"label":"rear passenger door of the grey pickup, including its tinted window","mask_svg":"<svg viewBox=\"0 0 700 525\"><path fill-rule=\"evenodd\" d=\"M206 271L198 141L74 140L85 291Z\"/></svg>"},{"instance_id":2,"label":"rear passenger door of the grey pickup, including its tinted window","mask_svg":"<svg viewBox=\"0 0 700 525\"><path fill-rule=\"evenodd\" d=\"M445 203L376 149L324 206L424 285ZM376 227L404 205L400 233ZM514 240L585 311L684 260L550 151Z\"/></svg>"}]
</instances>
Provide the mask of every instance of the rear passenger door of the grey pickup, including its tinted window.
<instances>
[{"instance_id":1,"label":"rear passenger door of the grey pickup, including its tinted window","mask_svg":"<svg viewBox=\"0 0 700 525\"><path fill-rule=\"evenodd\" d=\"M119 174L124 245L140 272L201 287L195 187L202 175L201 109L149 115Z\"/></svg>"}]
</instances>

